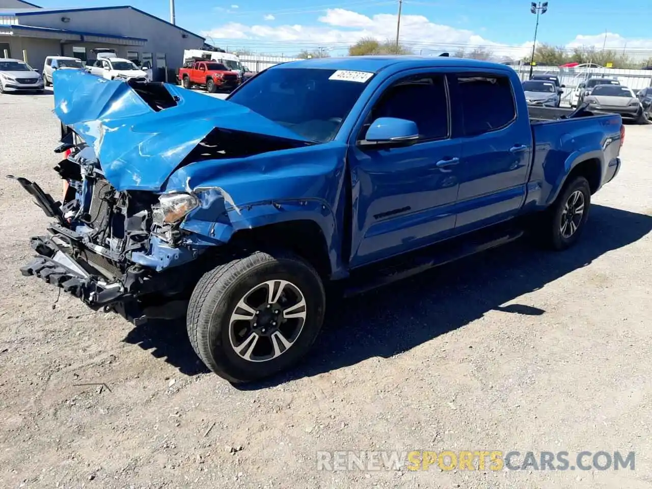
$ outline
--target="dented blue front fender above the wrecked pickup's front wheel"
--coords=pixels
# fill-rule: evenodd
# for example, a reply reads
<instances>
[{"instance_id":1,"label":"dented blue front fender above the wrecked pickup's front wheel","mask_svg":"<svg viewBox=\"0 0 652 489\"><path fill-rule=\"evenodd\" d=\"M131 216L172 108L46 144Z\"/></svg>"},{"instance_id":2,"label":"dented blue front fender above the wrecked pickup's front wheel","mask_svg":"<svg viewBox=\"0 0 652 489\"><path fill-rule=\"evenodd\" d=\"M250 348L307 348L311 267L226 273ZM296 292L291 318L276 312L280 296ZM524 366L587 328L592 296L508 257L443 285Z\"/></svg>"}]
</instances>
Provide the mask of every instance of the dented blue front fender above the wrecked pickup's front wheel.
<instances>
[{"instance_id":1,"label":"dented blue front fender above the wrecked pickup's front wheel","mask_svg":"<svg viewBox=\"0 0 652 489\"><path fill-rule=\"evenodd\" d=\"M344 143L275 151L248 158L206 160L171 175L164 192L189 192L200 207L181 228L206 243L279 222L311 220L325 237L333 278L344 273L340 251L346 201Z\"/></svg>"}]
</instances>

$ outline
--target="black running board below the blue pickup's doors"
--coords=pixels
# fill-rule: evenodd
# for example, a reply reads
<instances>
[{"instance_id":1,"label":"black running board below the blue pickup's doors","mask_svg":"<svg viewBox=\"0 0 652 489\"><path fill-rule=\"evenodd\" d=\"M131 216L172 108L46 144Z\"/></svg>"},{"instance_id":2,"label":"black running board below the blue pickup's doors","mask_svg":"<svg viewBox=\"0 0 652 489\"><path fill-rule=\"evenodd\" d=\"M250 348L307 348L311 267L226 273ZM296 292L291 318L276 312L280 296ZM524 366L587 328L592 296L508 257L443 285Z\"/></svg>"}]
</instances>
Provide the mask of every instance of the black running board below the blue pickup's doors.
<instances>
[{"instance_id":1,"label":"black running board below the blue pickup's doors","mask_svg":"<svg viewBox=\"0 0 652 489\"><path fill-rule=\"evenodd\" d=\"M421 250L375 265L367 265L351 272L344 288L344 297L352 297L372 289L403 280L439 265L465 258L503 244L510 243L524 234L523 230L482 230L469 235L449 239Z\"/></svg>"}]
</instances>

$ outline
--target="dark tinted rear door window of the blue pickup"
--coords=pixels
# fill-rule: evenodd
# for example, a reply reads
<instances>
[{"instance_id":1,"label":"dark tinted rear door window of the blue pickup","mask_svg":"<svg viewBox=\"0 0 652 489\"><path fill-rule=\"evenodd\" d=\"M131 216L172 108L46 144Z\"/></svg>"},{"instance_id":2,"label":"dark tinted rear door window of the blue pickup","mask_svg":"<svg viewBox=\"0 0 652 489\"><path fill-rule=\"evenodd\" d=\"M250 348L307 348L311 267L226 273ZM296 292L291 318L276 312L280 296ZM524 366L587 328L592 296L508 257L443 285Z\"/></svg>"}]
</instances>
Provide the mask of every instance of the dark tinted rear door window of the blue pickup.
<instances>
[{"instance_id":1,"label":"dark tinted rear door window of the blue pickup","mask_svg":"<svg viewBox=\"0 0 652 489\"><path fill-rule=\"evenodd\" d=\"M465 136L491 132L516 119L514 93L507 76L464 74L456 80Z\"/></svg>"}]
</instances>

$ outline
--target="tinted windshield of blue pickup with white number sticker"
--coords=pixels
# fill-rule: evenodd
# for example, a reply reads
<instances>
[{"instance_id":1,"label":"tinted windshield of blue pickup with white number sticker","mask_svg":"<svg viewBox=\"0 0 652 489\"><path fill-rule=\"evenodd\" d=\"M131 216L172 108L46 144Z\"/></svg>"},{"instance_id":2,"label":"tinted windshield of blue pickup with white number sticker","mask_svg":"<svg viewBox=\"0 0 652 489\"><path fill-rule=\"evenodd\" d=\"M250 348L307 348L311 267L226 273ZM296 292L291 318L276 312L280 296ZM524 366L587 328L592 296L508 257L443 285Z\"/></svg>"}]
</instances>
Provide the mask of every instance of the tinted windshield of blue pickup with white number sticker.
<instances>
[{"instance_id":1,"label":"tinted windshield of blue pickup with white number sticker","mask_svg":"<svg viewBox=\"0 0 652 489\"><path fill-rule=\"evenodd\" d=\"M324 143L335 137L373 77L372 73L353 73L359 74L361 81L344 80L350 73L335 70L268 69L244 83L227 100L250 108L299 136ZM334 74L342 76L335 78Z\"/></svg>"}]
</instances>

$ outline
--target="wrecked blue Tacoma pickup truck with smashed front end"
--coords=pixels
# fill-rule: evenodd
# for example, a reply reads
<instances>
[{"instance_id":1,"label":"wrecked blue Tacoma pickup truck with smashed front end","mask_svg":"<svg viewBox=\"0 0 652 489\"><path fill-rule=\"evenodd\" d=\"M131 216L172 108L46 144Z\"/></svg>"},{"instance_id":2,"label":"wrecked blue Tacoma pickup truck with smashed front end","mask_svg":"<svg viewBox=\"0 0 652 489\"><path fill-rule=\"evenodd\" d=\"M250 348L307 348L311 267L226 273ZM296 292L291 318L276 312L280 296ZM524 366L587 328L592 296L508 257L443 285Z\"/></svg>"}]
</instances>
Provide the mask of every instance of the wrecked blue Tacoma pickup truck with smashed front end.
<instances>
[{"instance_id":1,"label":"wrecked blue Tacoma pickup truck with smashed front end","mask_svg":"<svg viewBox=\"0 0 652 489\"><path fill-rule=\"evenodd\" d=\"M55 72L61 201L22 268L140 323L186 316L216 374L306 355L348 295L512 241L563 250L619 170L621 117L528 108L505 65L311 59L218 100Z\"/></svg>"}]
</instances>

